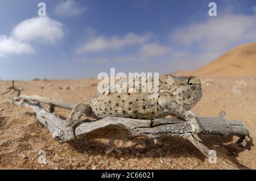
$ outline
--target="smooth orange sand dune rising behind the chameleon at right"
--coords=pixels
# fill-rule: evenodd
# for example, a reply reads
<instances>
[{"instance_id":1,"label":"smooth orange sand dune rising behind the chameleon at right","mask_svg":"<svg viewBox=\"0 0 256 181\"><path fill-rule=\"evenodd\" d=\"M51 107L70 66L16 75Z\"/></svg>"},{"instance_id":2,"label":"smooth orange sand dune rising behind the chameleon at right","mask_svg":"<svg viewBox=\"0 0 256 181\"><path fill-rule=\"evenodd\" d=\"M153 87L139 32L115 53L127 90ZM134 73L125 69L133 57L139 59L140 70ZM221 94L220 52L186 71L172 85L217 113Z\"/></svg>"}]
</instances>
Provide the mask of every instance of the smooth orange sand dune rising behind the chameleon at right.
<instances>
[{"instance_id":1,"label":"smooth orange sand dune rising behind the chameleon at right","mask_svg":"<svg viewBox=\"0 0 256 181\"><path fill-rule=\"evenodd\" d=\"M193 75L256 75L256 43L240 45L209 64L192 71Z\"/></svg>"}]
</instances>

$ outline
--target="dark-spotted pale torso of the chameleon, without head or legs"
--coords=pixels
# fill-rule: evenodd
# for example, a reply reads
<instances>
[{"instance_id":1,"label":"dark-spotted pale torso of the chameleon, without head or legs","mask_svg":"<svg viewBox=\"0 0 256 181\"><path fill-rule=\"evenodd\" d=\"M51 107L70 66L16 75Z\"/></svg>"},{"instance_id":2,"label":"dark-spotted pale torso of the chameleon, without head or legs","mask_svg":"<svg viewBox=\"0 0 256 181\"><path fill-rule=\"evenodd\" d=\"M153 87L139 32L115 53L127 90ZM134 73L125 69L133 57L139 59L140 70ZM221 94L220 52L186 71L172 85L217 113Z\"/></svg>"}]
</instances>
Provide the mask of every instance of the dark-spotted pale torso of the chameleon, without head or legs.
<instances>
[{"instance_id":1,"label":"dark-spotted pale torso of the chameleon, without head or legs","mask_svg":"<svg viewBox=\"0 0 256 181\"><path fill-rule=\"evenodd\" d=\"M147 92L122 92L98 94L90 102L92 112L98 119L104 117L129 117L133 119L154 119L162 117L163 108L158 99L149 99Z\"/></svg>"}]
</instances>

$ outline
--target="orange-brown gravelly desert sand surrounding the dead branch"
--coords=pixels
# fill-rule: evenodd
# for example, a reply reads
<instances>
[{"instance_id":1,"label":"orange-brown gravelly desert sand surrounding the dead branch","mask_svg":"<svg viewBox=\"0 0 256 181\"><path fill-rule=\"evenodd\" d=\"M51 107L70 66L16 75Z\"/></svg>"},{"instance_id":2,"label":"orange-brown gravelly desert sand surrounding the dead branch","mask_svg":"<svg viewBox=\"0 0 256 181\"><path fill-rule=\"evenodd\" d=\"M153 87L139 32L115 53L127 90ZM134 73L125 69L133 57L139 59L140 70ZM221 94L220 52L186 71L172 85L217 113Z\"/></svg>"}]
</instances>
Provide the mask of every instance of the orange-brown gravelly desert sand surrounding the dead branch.
<instances>
[{"instance_id":1,"label":"orange-brown gravelly desert sand surrounding the dead branch","mask_svg":"<svg viewBox=\"0 0 256 181\"><path fill-rule=\"evenodd\" d=\"M243 120L254 138L256 125L256 77L204 77L204 95L192 111L197 116L218 116L225 110L230 120ZM56 80L15 82L22 94L40 95L69 102L86 103L97 92L97 81ZM0 81L0 92L10 86ZM115 141L123 154L104 150L108 140L77 140L59 144L52 140L32 115L30 108L6 103L15 95L0 98L0 169L256 169L256 149L243 150L237 137L201 136L217 151L217 163L210 164L199 150L182 138L162 138L162 145L146 138ZM56 108L65 117L68 110ZM38 162L39 150L46 151L46 164Z\"/></svg>"}]
</instances>

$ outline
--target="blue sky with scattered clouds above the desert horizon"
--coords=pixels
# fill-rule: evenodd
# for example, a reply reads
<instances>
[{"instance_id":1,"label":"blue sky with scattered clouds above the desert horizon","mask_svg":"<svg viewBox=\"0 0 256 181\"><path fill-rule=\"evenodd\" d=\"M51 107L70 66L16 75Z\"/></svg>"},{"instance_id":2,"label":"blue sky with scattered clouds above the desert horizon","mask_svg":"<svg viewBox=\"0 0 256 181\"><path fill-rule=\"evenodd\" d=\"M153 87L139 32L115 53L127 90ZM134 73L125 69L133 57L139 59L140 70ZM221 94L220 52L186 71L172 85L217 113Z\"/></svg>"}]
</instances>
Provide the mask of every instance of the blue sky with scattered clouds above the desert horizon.
<instances>
[{"instance_id":1,"label":"blue sky with scattered clouds above the desert horizon","mask_svg":"<svg viewBox=\"0 0 256 181\"><path fill-rule=\"evenodd\" d=\"M0 0L0 24L0 79L89 78L110 68L164 74L254 42L256 1Z\"/></svg>"}]
</instances>

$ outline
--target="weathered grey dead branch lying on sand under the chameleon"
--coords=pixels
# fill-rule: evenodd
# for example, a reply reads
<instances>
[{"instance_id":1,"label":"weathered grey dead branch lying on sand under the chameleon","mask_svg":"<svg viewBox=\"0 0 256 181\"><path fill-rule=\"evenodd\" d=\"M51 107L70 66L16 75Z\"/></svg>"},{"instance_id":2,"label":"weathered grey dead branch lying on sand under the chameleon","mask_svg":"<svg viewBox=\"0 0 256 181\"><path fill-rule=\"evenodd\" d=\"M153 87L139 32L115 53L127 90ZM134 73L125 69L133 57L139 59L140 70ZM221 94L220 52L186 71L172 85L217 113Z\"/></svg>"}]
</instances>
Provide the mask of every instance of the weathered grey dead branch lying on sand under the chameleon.
<instances>
[{"instance_id":1,"label":"weathered grey dead branch lying on sand under the chameleon","mask_svg":"<svg viewBox=\"0 0 256 181\"><path fill-rule=\"evenodd\" d=\"M38 102L50 104L51 107L48 110L44 109ZM11 103L31 107L38 121L49 129L56 141L65 142L71 140L65 129L65 120L52 112L54 111L54 106L71 110L75 104L26 95L20 95ZM199 134L233 135L239 136L241 140L244 140L243 143L250 141L249 131L245 125L241 121L227 120L224 111L220 113L219 117L196 117L196 119L201 128L201 133ZM111 140L131 140L134 137L156 139L159 137L179 136L191 141L205 156L208 157L209 153L209 149L206 146L193 138L190 124L179 117L155 120L136 120L123 117L106 117L97 121L87 119L77 124L74 132L75 138L108 138Z\"/></svg>"}]
</instances>

